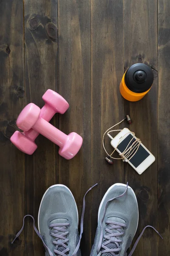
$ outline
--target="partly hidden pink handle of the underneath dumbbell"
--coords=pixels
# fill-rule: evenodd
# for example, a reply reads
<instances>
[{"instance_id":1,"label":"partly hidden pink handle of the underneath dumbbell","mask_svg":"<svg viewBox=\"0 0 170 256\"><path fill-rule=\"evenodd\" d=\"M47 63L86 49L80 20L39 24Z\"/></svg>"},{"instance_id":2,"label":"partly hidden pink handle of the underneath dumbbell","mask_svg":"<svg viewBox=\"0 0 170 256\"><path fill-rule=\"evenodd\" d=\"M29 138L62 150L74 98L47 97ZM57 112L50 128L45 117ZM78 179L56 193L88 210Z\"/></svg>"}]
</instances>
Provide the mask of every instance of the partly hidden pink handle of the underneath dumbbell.
<instances>
[{"instance_id":1,"label":"partly hidden pink handle of the underneath dumbbell","mask_svg":"<svg viewBox=\"0 0 170 256\"><path fill-rule=\"evenodd\" d=\"M46 104L42 107L40 112L40 117L49 122L51 118L57 113L53 108L51 108L50 105ZM30 129L29 131L24 131L24 134L27 138L34 141L38 135L39 132L35 131L34 129Z\"/></svg>"}]
</instances>

